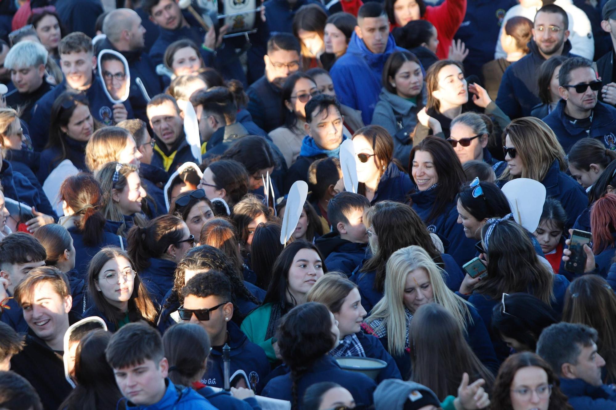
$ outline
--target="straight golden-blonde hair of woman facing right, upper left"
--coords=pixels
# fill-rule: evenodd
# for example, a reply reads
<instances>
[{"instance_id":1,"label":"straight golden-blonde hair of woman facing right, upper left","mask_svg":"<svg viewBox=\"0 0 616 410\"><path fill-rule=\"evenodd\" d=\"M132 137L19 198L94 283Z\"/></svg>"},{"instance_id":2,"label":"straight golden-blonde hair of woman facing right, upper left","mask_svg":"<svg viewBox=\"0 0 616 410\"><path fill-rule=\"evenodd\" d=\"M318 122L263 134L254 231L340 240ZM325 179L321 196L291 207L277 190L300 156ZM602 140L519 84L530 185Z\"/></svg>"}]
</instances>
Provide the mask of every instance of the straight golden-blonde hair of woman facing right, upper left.
<instances>
[{"instance_id":1,"label":"straight golden-blonde hair of woman facing right, upper left","mask_svg":"<svg viewBox=\"0 0 616 410\"><path fill-rule=\"evenodd\" d=\"M103 127L94 131L86 145L88 169L95 172L107 163L118 161L118 154L131 137L131 133L122 127Z\"/></svg>"}]
</instances>

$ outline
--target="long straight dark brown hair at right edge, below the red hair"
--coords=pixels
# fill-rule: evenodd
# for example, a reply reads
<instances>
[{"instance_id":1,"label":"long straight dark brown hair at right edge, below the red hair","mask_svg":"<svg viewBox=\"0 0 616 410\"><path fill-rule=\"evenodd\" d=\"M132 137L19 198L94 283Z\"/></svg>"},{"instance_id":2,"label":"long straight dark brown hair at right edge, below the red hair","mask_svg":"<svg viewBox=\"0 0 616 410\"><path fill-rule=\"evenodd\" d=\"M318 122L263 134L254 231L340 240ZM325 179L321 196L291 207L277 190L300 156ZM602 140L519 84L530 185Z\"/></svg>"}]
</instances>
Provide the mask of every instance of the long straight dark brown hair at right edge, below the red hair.
<instances>
[{"instance_id":1,"label":"long straight dark brown hair at right edge, below the red hair","mask_svg":"<svg viewBox=\"0 0 616 410\"><path fill-rule=\"evenodd\" d=\"M575 279L565 294L562 321L581 323L599 333L597 350L606 360L607 383L616 381L616 295L606 279L584 275Z\"/></svg>"}]
</instances>

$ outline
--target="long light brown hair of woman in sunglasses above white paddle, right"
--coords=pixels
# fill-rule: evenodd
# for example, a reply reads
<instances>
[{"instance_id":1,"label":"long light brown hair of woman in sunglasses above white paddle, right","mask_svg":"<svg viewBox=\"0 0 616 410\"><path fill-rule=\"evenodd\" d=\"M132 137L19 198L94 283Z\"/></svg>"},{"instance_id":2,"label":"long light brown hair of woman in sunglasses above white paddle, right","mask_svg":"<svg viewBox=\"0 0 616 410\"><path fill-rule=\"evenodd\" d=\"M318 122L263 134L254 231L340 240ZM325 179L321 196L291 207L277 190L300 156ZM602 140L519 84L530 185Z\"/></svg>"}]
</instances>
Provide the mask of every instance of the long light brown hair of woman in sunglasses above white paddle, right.
<instances>
[{"instance_id":1,"label":"long light brown hair of woman in sunglasses above white paddle, right","mask_svg":"<svg viewBox=\"0 0 616 410\"><path fill-rule=\"evenodd\" d=\"M509 137L524 164L521 178L541 182L548 174L554 159L558 160L561 171L567 170L565 150L562 149L554 131L540 119L535 117L514 119L505 127L503 135ZM509 174L509 168L505 169L498 179L513 179Z\"/></svg>"}]
</instances>

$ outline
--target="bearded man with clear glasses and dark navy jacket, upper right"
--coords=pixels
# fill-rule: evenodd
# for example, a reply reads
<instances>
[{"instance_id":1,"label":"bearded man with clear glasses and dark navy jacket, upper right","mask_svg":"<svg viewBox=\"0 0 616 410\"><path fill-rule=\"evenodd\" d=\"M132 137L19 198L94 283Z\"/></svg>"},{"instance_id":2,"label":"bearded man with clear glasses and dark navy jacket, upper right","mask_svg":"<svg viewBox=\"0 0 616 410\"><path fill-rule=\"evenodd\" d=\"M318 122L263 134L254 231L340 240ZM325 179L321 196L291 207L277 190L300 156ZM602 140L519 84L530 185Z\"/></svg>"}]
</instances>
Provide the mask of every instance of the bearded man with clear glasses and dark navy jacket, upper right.
<instances>
[{"instance_id":1,"label":"bearded man with clear glasses and dark navy jacket, upper right","mask_svg":"<svg viewBox=\"0 0 616 410\"><path fill-rule=\"evenodd\" d=\"M567 12L556 4L538 10L532 33L530 53L505 70L496 97L496 105L511 119L530 116L533 107L540 103L537 76L545 60L553 55L578 57L570 53Z\"/></svg>"}]
</instances>

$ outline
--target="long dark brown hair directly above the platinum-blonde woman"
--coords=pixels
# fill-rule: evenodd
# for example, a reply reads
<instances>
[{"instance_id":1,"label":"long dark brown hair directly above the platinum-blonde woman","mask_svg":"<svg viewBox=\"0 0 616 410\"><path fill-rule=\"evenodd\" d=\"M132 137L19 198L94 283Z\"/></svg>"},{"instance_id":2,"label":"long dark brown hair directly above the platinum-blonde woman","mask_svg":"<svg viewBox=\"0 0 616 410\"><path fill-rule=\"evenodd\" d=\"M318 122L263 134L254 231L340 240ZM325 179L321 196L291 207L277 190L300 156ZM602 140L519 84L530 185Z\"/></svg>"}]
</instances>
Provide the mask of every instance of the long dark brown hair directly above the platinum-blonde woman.
<instances>
[{"instance_id":1,"label":"long dark brown hair directly above the platinum-blonde woman","mask_svg":"<svg viewBox=\"0 0 616 410\"><path fill-rule=\"evenodd\" d=\"M423 247L434 262L444 268L440 252L434 246L426 225L413 208L399 202L381 201L376 203L370 214L371 227L378 237L378 245L368 239L373 253L363 265L362 272L376 270L374 287L377 291L384 291L387 259L403 247Z\"/></svg>"}]
</instances>

